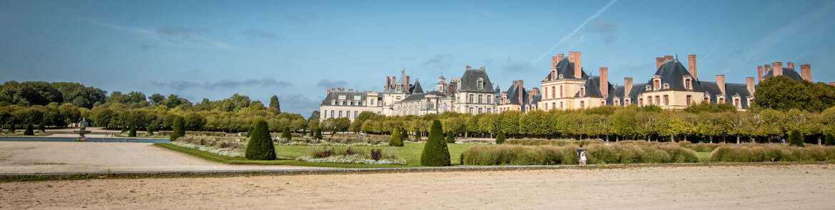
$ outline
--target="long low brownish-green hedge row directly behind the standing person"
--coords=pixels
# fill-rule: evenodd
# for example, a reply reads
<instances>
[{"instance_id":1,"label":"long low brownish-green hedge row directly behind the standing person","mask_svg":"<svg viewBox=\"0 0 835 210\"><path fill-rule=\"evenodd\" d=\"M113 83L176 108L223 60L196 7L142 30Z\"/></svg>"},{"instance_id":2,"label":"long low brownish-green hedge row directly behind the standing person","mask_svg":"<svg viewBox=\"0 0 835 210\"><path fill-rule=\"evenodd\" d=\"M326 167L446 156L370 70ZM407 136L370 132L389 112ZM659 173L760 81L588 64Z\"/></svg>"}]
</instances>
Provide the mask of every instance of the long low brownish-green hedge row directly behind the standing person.
<instances>
[{"instance_id":1,"label":"long low brownish-green hedge row directly behind the standing person","mask_svg":"<svg viewBox=\"0 0 835 210\"><path fill-rule=\"evenodd\" d=\"M461 154L464 165L574 165L577 146L473 146ZM589 164L696 162L696 151L668 143L615 143L584 146Z\"/></svg>"}]
</instances>

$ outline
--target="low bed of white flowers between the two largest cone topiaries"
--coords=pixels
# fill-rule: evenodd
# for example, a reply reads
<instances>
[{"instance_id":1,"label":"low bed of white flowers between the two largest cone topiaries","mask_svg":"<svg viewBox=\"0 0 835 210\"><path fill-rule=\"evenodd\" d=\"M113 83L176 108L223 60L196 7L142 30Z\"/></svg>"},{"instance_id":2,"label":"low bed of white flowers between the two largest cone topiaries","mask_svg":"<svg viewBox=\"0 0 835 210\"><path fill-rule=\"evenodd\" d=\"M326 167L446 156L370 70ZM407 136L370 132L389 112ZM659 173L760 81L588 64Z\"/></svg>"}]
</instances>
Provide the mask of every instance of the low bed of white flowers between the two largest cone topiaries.
<instances>
[{"instance_id":1,"label":"low bed of white flowers between the two largest cone topiaries","mask_svg":"<svg viewBox=\"0 0 835 210\"><path fill-rule=\"evenodd\" d=\"M406 165L406 160L398 157L397 151L392 148L357 149L351 148L351 146L313 146L307 150L306 156L298 157L296 160L371 165Z\"/></svg>"}]
</instances>

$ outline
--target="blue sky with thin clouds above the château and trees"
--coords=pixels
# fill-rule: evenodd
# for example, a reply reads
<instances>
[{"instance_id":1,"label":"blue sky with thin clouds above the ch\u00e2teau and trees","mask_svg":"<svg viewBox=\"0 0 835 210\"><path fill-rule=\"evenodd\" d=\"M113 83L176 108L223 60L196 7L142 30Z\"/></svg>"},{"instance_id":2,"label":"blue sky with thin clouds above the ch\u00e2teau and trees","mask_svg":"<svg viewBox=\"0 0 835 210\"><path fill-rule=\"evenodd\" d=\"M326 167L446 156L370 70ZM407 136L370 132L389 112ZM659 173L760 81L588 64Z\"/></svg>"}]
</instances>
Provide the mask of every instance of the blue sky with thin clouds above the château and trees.
<instances>
[{"instance_id":1,"label":"blue sky with thin clouds above the ch\u00e2teau and trees","mask_svg":"<svg viewBox=\"0 0 835 210\"><path fill-rule=\"evenodd\" d=\"M645 82L655 57L696 54L700 80L811 64L835 81L835 1L47 1L0 0L0 82L234 94L310 115L326 90L382 91L405 69L424 90L484 66L505 90L539 86L550 57ZM799 67L797 68L799 69Z\"/></svg>"}]
</instances>

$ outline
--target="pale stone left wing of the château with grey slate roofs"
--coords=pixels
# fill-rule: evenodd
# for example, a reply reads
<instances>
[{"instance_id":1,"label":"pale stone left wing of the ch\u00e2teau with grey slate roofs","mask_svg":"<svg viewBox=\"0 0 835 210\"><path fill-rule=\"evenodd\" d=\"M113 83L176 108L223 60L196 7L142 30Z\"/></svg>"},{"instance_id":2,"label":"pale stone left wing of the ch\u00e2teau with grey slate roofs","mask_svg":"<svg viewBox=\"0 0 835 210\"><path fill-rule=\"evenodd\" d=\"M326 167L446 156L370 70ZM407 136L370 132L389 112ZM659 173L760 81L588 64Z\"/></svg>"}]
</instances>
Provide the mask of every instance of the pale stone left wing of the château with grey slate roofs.
<instances>
[{"instance_id":1,"label":"pale stone left wing of the ch\u00e2teau with grey slate roofs","mask_svg":"<svg viewBox=\"0 0 835 210\"><path fill-rule=\"evenodd\" d=\"M484 67L467 66L462 77L452 78L449 82L442 75L435 90L428 92L424 92L419 81L412 84L410 79L402 70L400 80L395 76L386 77L382 92L331 88L319 105L320 119L347 117L354 120L362 111L377 115L427 115L447 111L477 115L497 111L496 90L493 90Z\"/></svg>"}]
</instances>

